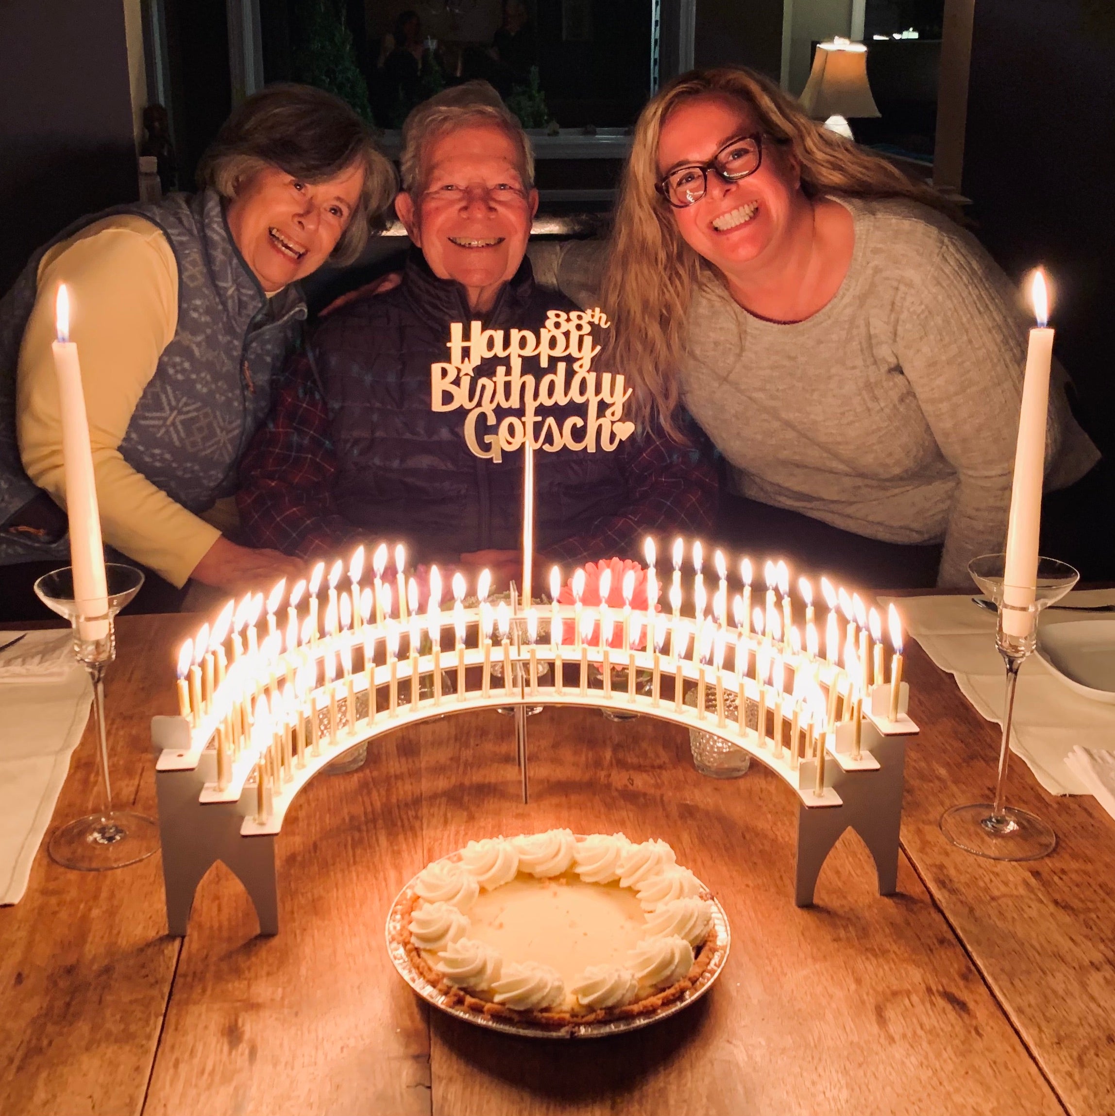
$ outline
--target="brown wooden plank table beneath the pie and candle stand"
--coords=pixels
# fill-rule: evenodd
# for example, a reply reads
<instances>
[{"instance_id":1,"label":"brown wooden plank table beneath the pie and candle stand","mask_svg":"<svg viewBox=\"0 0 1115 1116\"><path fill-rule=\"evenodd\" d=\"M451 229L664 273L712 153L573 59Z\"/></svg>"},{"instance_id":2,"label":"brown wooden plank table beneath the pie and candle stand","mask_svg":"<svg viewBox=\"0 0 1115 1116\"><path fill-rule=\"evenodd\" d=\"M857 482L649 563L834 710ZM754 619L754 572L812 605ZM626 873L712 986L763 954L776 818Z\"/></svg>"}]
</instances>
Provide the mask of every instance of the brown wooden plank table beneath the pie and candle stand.
<instances>
[{"instance_id":1,"label":"brown wooden plank table beneath the pie and candle stand","mask_svg":"<svg viewBox=\"0 0 1115 1116\"><path fill-rule=\"evenodd\" d=\"M196 624L117 624L113 786L152 816L150 721L175 711L173 657ZM892 896L845 831L798 908L780 779L759 763L707 778L684 730L590 710L530 719L529 805L513 722L493 711L396 731L361 769L323 773L278 838L271 937L222 865L171 937L157 854L70 872L44 841L27 894L0 908L0 1114L1115 1114L1115 821L1016 760L1009 800L1052 824L1056 850L1002 864L954 848L938 820L987 799L999 730L916 646L906 671L921 733ZM100 796L90 727L52 824ZM676 849L731 925L708 995L579 1041L496 1033L411 991L384 941L400 888L471 838L550 827Z\"/></svg>"}]
</instances>

